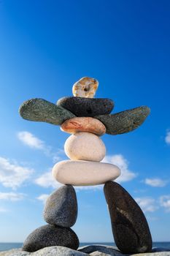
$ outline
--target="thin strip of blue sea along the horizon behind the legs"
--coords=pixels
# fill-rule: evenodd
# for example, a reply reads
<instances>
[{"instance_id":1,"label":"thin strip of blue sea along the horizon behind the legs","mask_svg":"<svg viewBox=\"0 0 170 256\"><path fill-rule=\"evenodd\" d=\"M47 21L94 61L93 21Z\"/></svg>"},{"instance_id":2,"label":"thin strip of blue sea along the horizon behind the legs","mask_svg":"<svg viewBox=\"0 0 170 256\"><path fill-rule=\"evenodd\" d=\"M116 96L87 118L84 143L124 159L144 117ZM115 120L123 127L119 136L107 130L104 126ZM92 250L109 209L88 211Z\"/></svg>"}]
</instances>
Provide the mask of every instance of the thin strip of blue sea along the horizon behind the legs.
<instances>
[{"instance_id":1,"label":"thin strip of blue sea along the horizon behind the legs","mask_svg":"<svg viewBox=\"0 0 170 256\"><path fill-rule=\"evenodd\" d=\"M80 246L86 246L89 244L104 244L109 246L115 246L114 243L106 243L106 242L80 243ZM22 246L23 246L23 243L0 243L0 252L6 251L9 249L20 248ZM170 242L153 242L153 247L170 249Z\"/></svg>"}]
</instances>

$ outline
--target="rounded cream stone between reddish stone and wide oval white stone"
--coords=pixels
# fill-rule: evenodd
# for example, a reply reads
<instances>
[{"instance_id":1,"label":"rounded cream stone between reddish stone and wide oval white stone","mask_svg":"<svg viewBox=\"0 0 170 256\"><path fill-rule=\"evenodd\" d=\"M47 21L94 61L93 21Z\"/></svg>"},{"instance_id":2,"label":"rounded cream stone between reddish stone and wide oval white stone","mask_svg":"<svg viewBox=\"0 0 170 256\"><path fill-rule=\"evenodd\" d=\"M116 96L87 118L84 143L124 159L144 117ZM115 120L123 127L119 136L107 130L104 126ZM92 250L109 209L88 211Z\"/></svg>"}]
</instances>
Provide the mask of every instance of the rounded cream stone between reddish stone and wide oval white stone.
<instances>
[{"instance_id":1,"label":"rounded cream stone between reddish stone and wide oval white stone","mask_svg":"<svg viewBox=\"0 0 170 256\"><path fill-rule=\"evenodd\" d=\"M77 132L69 136L64 144L64 151L72 160L100 162L106 155L103 141L89 132Z\"/></svg>"}]
</instances>

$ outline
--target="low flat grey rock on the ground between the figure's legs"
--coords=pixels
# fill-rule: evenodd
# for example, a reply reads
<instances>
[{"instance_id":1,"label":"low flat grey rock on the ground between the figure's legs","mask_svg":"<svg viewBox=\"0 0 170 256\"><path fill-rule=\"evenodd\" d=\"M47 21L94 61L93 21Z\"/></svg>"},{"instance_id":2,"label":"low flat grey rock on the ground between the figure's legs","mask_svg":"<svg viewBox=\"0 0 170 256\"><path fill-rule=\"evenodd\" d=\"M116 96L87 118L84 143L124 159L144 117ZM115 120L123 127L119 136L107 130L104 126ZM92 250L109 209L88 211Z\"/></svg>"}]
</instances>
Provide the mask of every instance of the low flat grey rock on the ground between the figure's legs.
<instances>
[{"instance_id":1,"label":"low flat grey rock on the ground between the figure's legs","mask_svg":"<svg viewBox=\"0 0 170 256\"><path fill-rule=\"evenodd\" d=\"M120 256L122 253L117 249L115 246L105 246L104 244L91 244L88 246L82 246L78 249L79 252L85 252L90 255L93 255L93 253L96 252L95 255L101 255L100 253L104 253L107 255L112 255L112 256Z\"/></svg>"}]
</instances>

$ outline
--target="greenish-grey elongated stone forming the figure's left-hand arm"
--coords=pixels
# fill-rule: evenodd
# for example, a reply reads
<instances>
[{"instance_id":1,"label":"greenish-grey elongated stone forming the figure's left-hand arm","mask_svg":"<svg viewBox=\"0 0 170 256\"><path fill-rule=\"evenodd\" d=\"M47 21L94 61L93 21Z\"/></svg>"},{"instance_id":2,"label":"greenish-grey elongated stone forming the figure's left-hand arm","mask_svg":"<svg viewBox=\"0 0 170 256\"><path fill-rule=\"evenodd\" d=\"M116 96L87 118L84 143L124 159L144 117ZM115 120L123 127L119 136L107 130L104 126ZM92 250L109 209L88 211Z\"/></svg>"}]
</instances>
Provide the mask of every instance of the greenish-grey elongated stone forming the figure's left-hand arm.
<instances>
[{"instance_id":1,"label":"greenish-grey elongated stone forming the figure's left-hand arm","mask_svg":"<svg viewBox=\"0 0 170 256\"><path fill-rule=\"evenodd\" d=\"M45 99L28 99L19 108L20 116L29 121L42 121L61 125L63 121L74 117L74 114Z\"/></svg>"}]
</instances>

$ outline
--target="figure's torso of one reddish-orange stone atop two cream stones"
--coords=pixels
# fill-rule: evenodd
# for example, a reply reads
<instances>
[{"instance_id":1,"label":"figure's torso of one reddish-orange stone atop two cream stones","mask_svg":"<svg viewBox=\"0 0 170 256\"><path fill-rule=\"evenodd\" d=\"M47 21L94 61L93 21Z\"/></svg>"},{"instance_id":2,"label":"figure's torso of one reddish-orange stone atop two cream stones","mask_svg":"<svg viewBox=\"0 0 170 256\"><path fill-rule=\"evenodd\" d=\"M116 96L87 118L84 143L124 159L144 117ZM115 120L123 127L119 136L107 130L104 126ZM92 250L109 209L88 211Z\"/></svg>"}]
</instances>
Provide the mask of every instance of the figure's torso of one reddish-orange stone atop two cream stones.
<instances>
[{"instance_id":1,"label":"figure's torso of one reddish-orange stone atop two cream stones","mask_svg":"<svg viewBox=\"0 0 170 256\"><path fill-rule=\"evenodd\" d=\"M53 176L58 182L90 186L104 184L120 176L117 166L101 162L106 155L106 147L98 137L106 130L101 121L89 117L71 118L61 125L61 129L73 135L64 145L70 160L58 162L53 167Z\"/></svg>"}]
</instances>

